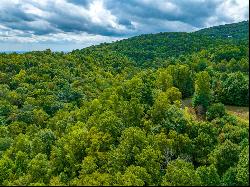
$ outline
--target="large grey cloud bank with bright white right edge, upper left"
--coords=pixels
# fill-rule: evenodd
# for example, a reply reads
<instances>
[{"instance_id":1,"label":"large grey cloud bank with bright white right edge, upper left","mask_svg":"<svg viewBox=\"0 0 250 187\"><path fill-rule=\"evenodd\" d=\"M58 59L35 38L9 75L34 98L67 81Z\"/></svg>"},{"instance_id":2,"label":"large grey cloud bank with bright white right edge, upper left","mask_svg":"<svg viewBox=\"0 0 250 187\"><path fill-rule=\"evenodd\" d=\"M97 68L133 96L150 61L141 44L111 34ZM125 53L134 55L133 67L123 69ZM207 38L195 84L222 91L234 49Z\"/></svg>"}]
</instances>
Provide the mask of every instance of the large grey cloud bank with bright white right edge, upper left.
<instances>
[{"instance_id":1,"label":"large grey cloud bank with bright white right edge, upper left","mask_svg":"<svg viewBox=\"0 0 250 187\"><path fill-rule=\"evenodd\" d=\"M23 0L16 4L14 1L8 2L0 7L0 24L12 29L31 31L38 35L54 32L87 32L117 36L126 34L131 28L116 22L116 17L98 1L95 3L80 0L44 2L38 3L32 0Z\"/></svg>"}]
</instances>

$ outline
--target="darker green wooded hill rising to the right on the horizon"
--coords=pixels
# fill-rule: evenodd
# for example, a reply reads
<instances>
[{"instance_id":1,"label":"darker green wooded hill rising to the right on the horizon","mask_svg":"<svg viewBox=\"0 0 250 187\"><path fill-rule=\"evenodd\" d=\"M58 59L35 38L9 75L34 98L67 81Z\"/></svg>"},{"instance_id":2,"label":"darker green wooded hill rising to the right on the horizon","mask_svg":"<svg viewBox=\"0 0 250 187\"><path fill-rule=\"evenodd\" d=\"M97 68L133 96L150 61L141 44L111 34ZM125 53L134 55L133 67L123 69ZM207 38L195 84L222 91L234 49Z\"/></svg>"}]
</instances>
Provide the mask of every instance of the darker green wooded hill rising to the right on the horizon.
<instances>
[{"instance_id":1,"label":"darker green wooded hill rising to the right on the horizon","mask_svg":"<svg viewBox=\"0 0 250 187\"><path fill-rule=\"evenodd\" d=\"M164 32L144 34L113 43L91 46L73 53L90 54L93 51L113 51L126 56L138 66L154 60L177 57L202 49L248 43L249 21L215 26L197 32Z\"/></svg>"}]
</instances>

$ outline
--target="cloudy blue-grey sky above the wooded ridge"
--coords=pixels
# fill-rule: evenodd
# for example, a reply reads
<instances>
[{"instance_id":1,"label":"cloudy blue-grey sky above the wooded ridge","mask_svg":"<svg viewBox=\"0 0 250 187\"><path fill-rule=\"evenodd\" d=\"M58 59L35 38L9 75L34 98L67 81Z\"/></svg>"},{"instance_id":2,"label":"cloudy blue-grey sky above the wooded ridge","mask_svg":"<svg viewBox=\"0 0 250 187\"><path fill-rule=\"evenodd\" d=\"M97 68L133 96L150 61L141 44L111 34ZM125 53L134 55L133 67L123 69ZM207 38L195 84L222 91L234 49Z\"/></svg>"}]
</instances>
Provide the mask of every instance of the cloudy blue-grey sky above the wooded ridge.
<instances>
[{"instance_id":1,"label":"cloudy blue-grey sky above the wooded ridge","mask_svg":"<svg viewBox=\"0 0 250 187\"><path fill-rule=\"evenodd\" d=\"M0 0L0 51L71 51L249 20L248 0Z\"/></svg>"}]
</instances>

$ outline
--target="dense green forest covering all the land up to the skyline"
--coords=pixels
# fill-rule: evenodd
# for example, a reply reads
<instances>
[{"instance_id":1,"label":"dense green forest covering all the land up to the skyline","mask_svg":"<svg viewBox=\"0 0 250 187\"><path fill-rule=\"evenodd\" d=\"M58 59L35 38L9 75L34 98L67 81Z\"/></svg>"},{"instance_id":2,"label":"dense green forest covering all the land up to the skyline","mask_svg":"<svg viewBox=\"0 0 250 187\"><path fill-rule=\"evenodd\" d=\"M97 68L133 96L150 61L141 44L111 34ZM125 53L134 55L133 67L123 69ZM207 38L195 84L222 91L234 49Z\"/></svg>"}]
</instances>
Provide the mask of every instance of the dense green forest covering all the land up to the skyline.
<instances>
[{"instance_id":1,"label":"dense green forest covering all the land up to the skyline","mask_svg":"<svg viewBox=\"0 0 250 187\"><path fill-rule=\"evenodd\" d=\"M249 185L248 27L0 54L0 185Z\"/></svg>"}]
</instances>

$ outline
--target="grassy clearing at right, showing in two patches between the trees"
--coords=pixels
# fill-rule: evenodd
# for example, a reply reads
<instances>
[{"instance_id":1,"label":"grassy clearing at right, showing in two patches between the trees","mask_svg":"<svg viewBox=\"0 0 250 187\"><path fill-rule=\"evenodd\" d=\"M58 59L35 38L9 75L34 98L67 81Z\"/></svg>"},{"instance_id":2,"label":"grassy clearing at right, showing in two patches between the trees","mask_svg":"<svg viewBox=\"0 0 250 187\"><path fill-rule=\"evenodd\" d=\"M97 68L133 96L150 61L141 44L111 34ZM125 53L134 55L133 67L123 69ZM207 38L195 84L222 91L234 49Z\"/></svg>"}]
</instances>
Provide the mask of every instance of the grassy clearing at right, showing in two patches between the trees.
<instances>
[{"instance_id":1,"label":"grassy clearing at right, showing in two patches between the trees","mask_svg":"<svg viewBox=\"0 0 250 187\"><path fill-rule=\"evenodd\" d=\"M192 98L182 100L182 107L192 107ZM229 106L225 105L228 114L237 116L239 119L249 123L249 107Z\"/></svg>"}]
</instances>

